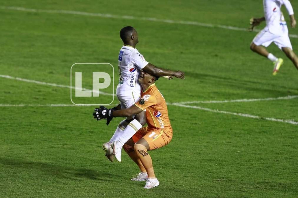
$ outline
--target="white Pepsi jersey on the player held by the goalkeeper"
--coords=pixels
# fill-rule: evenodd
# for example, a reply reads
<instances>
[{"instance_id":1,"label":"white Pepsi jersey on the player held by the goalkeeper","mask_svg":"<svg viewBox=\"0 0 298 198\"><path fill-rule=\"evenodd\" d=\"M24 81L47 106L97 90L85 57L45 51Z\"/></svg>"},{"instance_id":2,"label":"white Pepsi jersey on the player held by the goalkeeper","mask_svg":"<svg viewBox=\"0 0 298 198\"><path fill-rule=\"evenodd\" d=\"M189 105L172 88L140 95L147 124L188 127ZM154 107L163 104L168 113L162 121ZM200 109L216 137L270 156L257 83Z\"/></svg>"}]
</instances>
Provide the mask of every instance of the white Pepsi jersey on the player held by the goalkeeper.
<instances>
[{"instance_id":1,"label":"white Pepsi jersey on the player held by the goalkeeper","mask_svg":"<svg viewBox=\"0 0 298 198\"><path fill-rule=\"evenodd\" d=\"M126 95L129 91L141 92L141 86L138 83L140 69L143 69L148 62L139 51L131 46L123 45L119 52L118 69L119 84L117 86L117 95Z\"/></svg>"}]
</instances>

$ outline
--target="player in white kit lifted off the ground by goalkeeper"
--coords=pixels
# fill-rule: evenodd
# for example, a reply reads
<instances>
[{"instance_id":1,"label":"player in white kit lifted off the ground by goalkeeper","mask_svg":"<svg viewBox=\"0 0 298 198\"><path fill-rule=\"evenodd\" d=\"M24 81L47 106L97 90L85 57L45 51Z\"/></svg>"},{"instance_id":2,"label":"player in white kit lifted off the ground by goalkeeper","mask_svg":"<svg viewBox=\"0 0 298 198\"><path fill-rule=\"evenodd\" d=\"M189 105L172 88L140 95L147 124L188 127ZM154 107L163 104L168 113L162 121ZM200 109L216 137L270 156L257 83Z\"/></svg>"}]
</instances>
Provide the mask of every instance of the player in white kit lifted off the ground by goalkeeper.
<instances>
[{"instance_id":1,"label":"player in white kit lifted off the ground by goalkeeper","mask_svg":"<svg viewBox=\"0 0 298 198\"><path fill-rule=\"evenodd\" d=\"M121 47L118 57L120 77L116 95L120 101L121 109L127 109L139 100L141 86L138 82L138 76L141 70L154 76L175 76L184 79L184 72L161 69L145 60L144 56L135 48L139 39L133 27L122 28L120 37L124 45ZM114 108L120 109L119 105ZM145 111L121 121L111 140L103 145L108 159L113 161L115 156L117 161L121 161L122 146L145 124Z\"/></svg>"}]
</instances>

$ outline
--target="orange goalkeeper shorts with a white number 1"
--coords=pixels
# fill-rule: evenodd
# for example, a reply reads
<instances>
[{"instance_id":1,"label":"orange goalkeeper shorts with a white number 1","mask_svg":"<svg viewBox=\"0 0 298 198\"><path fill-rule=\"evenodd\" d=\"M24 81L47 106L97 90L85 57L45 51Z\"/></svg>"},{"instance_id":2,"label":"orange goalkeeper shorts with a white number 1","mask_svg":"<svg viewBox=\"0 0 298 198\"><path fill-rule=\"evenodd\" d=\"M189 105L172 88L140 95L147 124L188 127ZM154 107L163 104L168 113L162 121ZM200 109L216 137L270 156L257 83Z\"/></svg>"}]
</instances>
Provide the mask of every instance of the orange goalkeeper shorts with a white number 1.
<instances>
[{"instance_id":1,"label":"orange goalkeeper shorts with a white number 1","mask_svg":"<svg viewBox=\"0 0 298 198\"><path fill-rule=\"evenodd\" d=\"M136 143L141 138L144 138L148 142L150 150L154 150L167 145L172 140L172 137L173 132L171 129L161 130L146 126L139 129L139 131L133 135L132 139L134 143Z\"/></svg>"}]
</instances>

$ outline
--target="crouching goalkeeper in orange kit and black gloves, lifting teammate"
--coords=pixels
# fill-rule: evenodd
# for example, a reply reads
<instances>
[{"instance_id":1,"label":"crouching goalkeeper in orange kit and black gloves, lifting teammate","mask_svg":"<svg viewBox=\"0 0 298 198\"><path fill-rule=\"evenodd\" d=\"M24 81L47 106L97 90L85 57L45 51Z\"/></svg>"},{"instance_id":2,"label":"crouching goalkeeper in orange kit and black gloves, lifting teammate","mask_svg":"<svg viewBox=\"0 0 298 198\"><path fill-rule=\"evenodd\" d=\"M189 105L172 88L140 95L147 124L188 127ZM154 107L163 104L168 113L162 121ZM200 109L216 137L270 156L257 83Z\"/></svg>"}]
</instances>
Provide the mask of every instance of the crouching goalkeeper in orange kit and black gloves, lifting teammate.
<instances>
[{"instance_id":1,"label":"crouching goalkeeper in orange kit and black gloves, lifting teammate","mask_svg":"<svg viewBox=\"0 0 298 198\"><path fill-rule=\"evenodd\" d=\"M154 84L158 78L144 71L141 72L138 81L142 86L142 93L138 102L130 108L122 110L107 109L101 106L100 109L95 109L93 113L94 118L100 120L103 118L127 117L146 111L148 126L136 131L133 137L123 146L126 153L128 153L141 170L138 176L131 180L146 181L145 189L159 186L159 181L154 174L152 159L147 151L167 145L173 137L167 104ZM133 125L131 127L134 128ZM121 155L121 148L117 148L114 145L113 143L111 148L117 158L117 153ZM119 149L120 152L118 151Z\"/></svg>"}]
</instances>

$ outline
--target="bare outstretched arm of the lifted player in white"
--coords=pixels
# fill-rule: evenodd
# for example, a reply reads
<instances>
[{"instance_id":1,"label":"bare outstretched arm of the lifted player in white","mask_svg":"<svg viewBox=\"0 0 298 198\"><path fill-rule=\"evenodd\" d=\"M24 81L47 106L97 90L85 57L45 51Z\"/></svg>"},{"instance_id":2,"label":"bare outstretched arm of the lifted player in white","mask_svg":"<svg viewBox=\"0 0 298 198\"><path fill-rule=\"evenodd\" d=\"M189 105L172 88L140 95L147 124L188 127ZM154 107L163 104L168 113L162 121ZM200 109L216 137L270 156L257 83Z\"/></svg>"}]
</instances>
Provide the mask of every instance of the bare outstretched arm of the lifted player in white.
<instances>
[{"instance_id":1,"label":"bare outstretched arm of the lifted player in white","mask_svg":"<svg viewBox=\"0 0 298 198\"><path fill-rule=\"evenodd\" d=\"M181 78L184 79L184 72L181 71L171 71L171 70L166 70L166 69L162 69L159 67L154 66L151 63L148 63L143 70L145 72L148 72L151 75L154 76L175 76L176 78Z\"/></svg>"}]
</instances>

